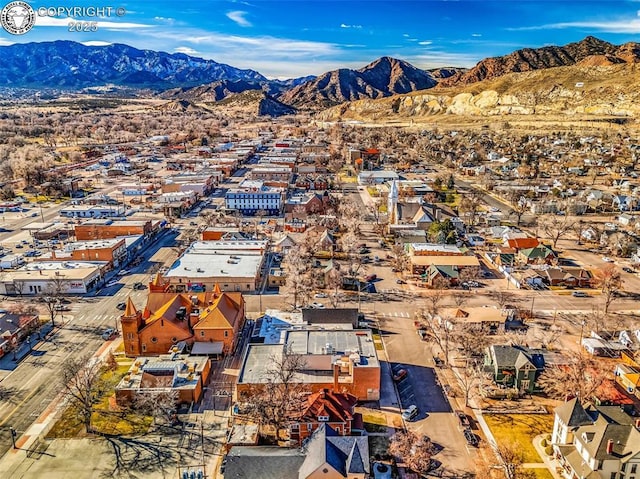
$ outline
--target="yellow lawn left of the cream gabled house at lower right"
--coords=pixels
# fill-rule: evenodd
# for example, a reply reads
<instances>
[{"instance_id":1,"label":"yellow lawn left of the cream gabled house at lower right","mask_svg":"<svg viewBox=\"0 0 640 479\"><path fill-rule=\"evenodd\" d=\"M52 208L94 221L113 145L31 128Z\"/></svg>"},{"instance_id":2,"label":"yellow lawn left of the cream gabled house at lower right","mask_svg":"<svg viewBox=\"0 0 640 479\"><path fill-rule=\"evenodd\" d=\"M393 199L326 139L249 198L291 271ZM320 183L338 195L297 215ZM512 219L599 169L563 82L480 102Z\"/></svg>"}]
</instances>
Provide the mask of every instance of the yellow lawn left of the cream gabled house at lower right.
<instances>
[{"instance_id":1,"label":"yellow lawn left of the cream gabled house at lower right","mask_svg":"<svg viewBox=\"0 0 640 479\"><path fill-rule=\"evenodd\" d=\"M524 462L542 462L533 447L538 434L550 434L552 414L484 414L498 445L511 444L521 450Z\"/></svg>"}]
</instances>

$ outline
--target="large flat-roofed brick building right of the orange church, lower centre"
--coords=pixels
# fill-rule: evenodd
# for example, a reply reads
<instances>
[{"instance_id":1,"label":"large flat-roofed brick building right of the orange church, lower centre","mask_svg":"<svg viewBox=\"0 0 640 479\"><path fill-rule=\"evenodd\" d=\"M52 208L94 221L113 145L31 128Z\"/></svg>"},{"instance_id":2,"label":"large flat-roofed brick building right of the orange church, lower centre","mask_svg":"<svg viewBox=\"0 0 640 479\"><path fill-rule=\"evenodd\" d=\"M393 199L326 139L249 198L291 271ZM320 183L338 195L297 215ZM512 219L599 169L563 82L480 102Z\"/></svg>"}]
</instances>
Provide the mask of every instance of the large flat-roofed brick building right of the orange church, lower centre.
<instances>
[{"instance_id":1,"label":"large flat-roofed brick building right of the orange church, lower centre","mask_svg":"<svg viewBox=\"0 0 640 479\"><path fill-rule=\"evenodd\" d=\"M305 357L305 369L296 374L296 380L311 392L332 389L352 394L359 401L380 399L380 363L370 330L307 327L284 331L279 337L283 337L282 343L249 345L236 384L238 400L270 380L271 359L282 356L288 348Z\"/></svg>"}]
</instances>

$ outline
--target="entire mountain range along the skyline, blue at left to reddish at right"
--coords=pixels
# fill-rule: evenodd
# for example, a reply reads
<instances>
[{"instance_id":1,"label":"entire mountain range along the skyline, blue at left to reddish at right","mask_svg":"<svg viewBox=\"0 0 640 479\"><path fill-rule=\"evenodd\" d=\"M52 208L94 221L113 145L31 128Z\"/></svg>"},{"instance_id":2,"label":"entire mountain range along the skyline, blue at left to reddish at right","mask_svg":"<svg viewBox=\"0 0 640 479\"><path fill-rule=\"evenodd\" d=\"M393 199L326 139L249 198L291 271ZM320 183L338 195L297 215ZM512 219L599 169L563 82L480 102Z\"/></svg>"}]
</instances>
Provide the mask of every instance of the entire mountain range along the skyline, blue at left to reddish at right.
<instances>
[{"instance_id":1,"label":"entire mountain range along the skyline, blue at left to reddish at right","mask_svg":"<svg viewBox=\"0 0 640 479\"><path fill-rule=\"evenodd\" d=\"M259 111L286 114L298 109L324 109L344 102L380 99L499 79L509 74L558 67L610 67L640 62L640 44L613 45L598 38L564 46L524 48L487 58L473 68L423 70L406 61L382 57L360 69L338 69L318 77L269 80L257 71L239 69L182 53L139 50L128 45L87 46L72 41L14 44L0 47L0 88L99 91L109 85L131 91L149 90L176 105L217 102L243 95ZM96 87L98 89L96 90ZM450 93L450 92L449 92ZM449 95L446 93L446 95ZM292 108L293 107L293 108Z\"/></svg>"}]
</instances>

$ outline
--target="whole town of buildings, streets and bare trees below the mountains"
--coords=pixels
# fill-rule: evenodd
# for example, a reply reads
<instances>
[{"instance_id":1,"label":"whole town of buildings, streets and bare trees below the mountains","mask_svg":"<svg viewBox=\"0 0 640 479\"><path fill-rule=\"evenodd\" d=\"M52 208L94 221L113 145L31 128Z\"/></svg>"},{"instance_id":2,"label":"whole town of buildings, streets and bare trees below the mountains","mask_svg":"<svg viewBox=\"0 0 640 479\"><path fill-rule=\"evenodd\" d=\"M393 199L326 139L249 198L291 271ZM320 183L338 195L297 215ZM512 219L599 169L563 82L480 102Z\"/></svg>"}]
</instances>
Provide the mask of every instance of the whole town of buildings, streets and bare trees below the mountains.
<instances>
[{"instance_id":1,"label":"whole town of buildings, streets and bare trees below the mountains","mask_svg":"<svg viewBox=\"0 0 640 479\"><path fill-rule=\"evenodd\" d=\"M640 477L624 125L73 103L0 117L2 477Z\"/></svg>"}]
</instances>

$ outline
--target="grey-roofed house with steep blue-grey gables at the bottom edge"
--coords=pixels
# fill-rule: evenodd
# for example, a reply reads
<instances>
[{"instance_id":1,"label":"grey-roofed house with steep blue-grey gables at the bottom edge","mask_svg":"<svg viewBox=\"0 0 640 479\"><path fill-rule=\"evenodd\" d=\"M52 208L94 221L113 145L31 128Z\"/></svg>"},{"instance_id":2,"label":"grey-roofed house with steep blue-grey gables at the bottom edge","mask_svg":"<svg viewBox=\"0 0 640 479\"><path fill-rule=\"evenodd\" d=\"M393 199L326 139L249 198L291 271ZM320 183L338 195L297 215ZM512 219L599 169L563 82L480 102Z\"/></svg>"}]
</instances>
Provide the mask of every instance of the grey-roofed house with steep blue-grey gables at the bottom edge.
<instances>
[{"instance_id":1,"label":"grey-roofed house with steep blue-grey gables at the bottom edge","mask_svg":"<svg viewBox=\"0 0 640 479\"><path fill-rule=\"evenodd\" d=\"M322 424L303 448L232 447L224 475L233 479L367 479L369 443L366 436L340 436Z\"/></svg>"}]
</instances>

